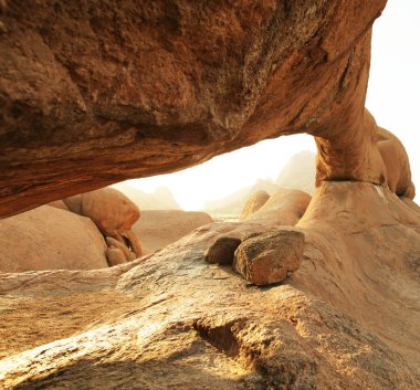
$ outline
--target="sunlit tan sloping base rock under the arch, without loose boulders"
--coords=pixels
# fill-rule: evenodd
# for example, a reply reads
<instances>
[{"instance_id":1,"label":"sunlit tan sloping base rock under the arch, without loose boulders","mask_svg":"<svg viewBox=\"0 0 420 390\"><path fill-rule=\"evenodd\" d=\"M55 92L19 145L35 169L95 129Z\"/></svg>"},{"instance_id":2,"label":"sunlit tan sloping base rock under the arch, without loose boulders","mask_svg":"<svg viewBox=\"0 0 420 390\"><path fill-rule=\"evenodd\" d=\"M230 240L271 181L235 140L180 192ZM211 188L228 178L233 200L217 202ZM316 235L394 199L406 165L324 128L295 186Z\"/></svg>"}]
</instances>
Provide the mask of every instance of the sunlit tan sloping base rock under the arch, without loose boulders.
<instances>
[{"instance_id":1,"label":"sunlit tan sloping base rock under the arch, without loose boulders","mask_svg":"<svg viewBox=\"0 0 420 390\"><path fill-rule=\"evenodd\" d=\"M1 386L418 389L419 208L324 183L301 267L270 288L203 260L210 238L256 225L199 228L138 266L0 274Z\"/></svg>"}]
</instances>

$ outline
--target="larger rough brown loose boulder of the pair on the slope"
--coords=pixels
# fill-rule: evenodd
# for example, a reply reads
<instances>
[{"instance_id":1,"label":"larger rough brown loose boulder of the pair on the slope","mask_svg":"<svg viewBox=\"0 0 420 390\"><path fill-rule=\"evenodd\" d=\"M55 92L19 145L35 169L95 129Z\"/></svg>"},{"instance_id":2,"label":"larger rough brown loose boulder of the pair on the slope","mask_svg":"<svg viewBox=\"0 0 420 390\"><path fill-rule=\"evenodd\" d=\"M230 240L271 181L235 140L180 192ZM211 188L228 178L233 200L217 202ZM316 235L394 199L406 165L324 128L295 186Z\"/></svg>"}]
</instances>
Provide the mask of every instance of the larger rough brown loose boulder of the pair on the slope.
<instances>
[{"instance_id":1,"label":"larger rough brown loose boulder of the pair on the slope","mask_svg":"<svg viewBox=\"0 0 420 390\"><path fill-rule=\"evenodd\" d=\"M258 286L280 283L298 270L305 235L277 230L251 236L234 253L233 270Z\"/></svg>"}]
</instances>

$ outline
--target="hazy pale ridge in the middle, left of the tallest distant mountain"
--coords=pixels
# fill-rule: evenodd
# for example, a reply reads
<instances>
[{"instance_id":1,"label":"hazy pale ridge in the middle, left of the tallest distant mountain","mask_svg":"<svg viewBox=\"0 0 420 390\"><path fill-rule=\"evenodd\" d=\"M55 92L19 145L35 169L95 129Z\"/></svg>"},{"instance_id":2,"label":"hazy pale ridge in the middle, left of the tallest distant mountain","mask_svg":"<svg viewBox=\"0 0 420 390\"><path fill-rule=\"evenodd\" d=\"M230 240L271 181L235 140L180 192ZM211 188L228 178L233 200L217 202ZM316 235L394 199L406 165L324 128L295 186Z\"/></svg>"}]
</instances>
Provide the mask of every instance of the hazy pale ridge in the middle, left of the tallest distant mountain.
<instances>
[{"instance_id":1,"label":"hazy pale ridge in the middle, left of the tallest distant mountain","mask_svg":"<svg viewBox=\"0 0 420 390\"><path fill-rule=\"evenodd\" d=\"M240 214L248 198L259 190L272 194L279 190L279 187L271 180L260 179L251 187L242 188L224 198L208 201L202 210L211 214Z\"/></svg>"}]
</instances>

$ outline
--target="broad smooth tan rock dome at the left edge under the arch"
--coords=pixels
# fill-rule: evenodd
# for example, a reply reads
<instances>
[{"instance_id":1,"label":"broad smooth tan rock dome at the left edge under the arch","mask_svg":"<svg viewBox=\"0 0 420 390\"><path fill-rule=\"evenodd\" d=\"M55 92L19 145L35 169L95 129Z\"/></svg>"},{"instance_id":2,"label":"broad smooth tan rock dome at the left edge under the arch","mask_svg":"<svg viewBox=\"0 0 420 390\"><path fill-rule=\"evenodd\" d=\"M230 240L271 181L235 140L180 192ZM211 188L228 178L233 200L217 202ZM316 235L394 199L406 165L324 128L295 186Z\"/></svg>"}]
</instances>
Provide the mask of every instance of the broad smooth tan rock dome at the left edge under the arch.
<instances>
[{"instance_id":1,"label":"broad smooth tan rock dome at the left edge under the arch","mask_svg":"<svg viewBox=\"0 0 420 390\"><path fill-rule=\"evenodd\" d=\"M49 205L0 220L0 247L1 272L108 266L96 225Z\"/></svg>"}]
</instances>

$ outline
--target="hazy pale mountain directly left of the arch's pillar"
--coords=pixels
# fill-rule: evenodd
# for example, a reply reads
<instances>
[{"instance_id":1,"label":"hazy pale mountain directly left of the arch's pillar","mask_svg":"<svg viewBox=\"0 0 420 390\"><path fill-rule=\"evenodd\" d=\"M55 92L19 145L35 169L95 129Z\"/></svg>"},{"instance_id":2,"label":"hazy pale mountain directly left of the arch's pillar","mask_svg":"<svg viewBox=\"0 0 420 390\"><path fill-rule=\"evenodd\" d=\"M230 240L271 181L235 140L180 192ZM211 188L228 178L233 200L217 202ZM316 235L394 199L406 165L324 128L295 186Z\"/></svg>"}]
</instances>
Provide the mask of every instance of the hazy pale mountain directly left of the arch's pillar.
<instances>
[{"instance_id":1,"label":"hazy pale mountain directly left of the arch's pillar","mask_svg":"<svg viewBox=\"0 0 420 390\"><path fill-rule=\"evenodd\" d=\"M280 188L296 189L313 194L315 191L315 157L309 150L294 155L280 172L275 185Z\"/></svg>"}]
</instances>

